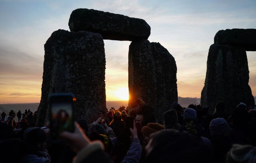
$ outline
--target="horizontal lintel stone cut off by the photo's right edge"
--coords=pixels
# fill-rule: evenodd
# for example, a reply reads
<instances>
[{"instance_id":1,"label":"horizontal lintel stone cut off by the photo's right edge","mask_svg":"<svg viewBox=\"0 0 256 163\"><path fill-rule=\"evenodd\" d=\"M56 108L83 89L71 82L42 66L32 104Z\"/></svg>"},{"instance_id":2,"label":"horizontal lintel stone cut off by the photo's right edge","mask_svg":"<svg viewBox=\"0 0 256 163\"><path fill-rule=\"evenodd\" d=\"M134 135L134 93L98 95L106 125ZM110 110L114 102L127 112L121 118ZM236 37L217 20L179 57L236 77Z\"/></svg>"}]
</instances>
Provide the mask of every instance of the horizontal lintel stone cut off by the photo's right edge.
<instances>
[{"instance_id":1,"label":"horizontal lintel stone cut off by the photo's right edge","mask_svg":"<svg viewBox=\"0 0 256 163\"><path fill-rule=\"evenodd\" d=\"M246 51L256 51L256 29L219 30L214 37L214 44L232 45Z\"/></svg>"}]
</instances>

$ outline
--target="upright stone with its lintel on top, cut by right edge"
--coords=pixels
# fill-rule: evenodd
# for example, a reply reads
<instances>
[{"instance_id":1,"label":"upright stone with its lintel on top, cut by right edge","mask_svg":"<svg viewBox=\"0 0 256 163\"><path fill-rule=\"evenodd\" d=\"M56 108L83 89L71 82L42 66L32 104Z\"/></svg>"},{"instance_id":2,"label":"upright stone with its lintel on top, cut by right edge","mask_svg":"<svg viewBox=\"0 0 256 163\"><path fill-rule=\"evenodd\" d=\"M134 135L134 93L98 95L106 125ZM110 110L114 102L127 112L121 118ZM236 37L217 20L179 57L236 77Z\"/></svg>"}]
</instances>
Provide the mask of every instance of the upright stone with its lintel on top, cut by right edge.
<instances>
[{"instance_id":1,"label":"upright stone with its lintel on top, cut by right edge","mask_svg":"<svg viewBox=\"0 0 256 163\"><path fill-rule=\"evenodd\" d=\"M232 112L240 102L254 108L249 82L246 51L256 50L256 29L220 30L210 46L201 105L214 112L218 101L225 101Z\"/></svg>"}]
</instances>

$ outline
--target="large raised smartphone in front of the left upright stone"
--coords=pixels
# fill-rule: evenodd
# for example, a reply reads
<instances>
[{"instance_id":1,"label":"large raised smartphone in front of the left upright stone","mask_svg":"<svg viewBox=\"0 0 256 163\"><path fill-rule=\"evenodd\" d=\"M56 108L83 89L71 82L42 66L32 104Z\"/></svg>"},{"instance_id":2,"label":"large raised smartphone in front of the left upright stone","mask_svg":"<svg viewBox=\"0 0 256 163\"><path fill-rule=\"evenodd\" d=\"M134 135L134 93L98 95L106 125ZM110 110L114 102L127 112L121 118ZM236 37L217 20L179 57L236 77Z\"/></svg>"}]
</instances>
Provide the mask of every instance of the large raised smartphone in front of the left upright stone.
<instances>
[{"instance_id":1,"label":"large raised smartphone in front of the left upright stone","mask_svg":"<svg viewBox=\"0 0 256 163\"><path fill-rule=\"evenodd\" d=\"M74 132L74 100L72 93L52 93L49 97L50 132L53 140L63 131Z\"/></svg>"}]
</instances>

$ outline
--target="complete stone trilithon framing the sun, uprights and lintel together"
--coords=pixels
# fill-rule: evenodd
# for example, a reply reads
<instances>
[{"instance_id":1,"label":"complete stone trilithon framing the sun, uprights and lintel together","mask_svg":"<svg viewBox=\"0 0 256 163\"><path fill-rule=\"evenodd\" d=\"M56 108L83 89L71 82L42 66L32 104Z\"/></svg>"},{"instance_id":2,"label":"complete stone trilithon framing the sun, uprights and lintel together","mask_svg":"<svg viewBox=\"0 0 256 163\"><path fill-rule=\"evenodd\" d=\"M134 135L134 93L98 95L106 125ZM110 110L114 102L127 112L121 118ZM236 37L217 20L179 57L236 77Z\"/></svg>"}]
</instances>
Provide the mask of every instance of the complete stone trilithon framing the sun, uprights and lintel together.
<instances>
[{"instance_id":1,"label":"complete stone trilithon framing the sun, uprights and lintel together","mask_svg":"<svg viewBox=\"0 0 256 163\"><path fill-rule=\"evenodd\" d=\"M42 96L37 126L48 121L50 93L73 93L75 119L95 121L106 109L106 59L103 39L132 41L128 54L130 97L140 97L162 114L178 101L176 62L159 43L150 43L150 26L145 20L97 10L77 9L68 22L70 31L57 30L44 48Z\"/></svg>"}]
</instances>

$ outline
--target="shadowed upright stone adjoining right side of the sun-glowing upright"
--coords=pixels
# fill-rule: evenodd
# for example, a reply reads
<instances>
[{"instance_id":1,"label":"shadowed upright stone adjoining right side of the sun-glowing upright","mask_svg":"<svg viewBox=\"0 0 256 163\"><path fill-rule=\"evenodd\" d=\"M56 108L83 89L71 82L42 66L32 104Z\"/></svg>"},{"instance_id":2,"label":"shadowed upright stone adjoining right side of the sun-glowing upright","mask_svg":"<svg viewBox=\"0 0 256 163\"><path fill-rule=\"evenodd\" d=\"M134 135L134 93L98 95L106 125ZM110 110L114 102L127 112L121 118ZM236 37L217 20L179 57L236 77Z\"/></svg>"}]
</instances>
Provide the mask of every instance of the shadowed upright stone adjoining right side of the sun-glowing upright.
<instances>
[{"instance_id":1,"label":"shadowed upright stone adjoining right side of the sun-glowing upright","mask_svg":"<svg viewBox=\"0 0 256 163\"><path fill-rule=\"evenodd\" d=\"M178 101L177 66L174 57L160 43L151 42L156 74L156 117L163 122L163 113Z\"/></svg>"}]
</instances>

